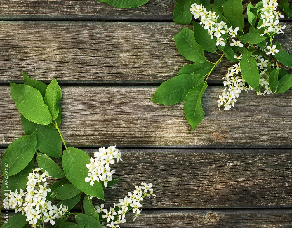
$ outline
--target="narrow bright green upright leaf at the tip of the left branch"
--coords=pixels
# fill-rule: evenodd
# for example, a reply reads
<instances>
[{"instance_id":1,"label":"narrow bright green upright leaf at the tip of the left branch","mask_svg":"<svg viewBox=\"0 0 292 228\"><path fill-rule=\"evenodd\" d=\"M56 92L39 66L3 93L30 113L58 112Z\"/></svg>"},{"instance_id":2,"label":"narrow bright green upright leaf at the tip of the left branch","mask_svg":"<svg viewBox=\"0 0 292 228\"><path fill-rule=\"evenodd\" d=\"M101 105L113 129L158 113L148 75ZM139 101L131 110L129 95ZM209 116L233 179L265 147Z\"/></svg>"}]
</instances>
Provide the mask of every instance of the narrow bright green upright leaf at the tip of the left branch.
<instances>
[{"instance_id":1,"label":"narrow bright green upright leaf at the tip of the left branch","mask_svg":"<svg viewBox=\"0 0 292 228\"><path fill-rule=\"evenodd\" d=\"M56 119L59 113L59 104L62 98L61 88L54 78L46 89L45 104L51 113L52 119Z\"/></svg>"}]
</instances>

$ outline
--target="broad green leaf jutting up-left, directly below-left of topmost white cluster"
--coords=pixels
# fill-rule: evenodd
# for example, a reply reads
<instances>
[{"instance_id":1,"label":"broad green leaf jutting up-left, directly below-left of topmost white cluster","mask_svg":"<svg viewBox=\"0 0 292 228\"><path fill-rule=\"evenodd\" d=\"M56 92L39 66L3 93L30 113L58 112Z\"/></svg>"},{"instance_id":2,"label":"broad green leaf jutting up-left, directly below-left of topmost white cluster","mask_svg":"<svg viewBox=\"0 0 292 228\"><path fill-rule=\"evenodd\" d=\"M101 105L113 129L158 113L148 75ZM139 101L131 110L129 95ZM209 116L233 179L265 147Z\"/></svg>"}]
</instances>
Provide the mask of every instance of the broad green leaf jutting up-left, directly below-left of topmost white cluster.
<instances>
[{"instance_id":1,"label":"broad green leaf jutting up-left, directly below-left of topmost white cluster","mask_svg":"<svg viewBox=\"0 0 292 228\"><path fill-rule=\"evenodd\" d=\"M195 41L194 32L191 29L183 28L173 39L183 57L193 62L207 62L204 49Z\"/></svg>"}]
</instances>

